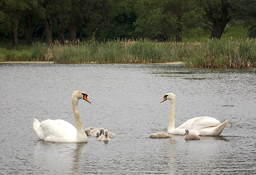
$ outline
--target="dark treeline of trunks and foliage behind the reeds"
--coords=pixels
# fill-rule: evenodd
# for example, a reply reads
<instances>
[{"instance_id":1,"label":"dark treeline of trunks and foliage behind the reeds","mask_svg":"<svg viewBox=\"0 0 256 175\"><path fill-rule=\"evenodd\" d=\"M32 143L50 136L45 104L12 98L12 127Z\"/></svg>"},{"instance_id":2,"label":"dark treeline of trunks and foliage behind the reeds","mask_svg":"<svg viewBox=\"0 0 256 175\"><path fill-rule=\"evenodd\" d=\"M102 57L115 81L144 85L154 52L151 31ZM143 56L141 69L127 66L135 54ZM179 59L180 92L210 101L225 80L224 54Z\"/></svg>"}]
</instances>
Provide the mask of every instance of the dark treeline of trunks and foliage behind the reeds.
<instances>
[{"instance_id":1,"label":"dark treeline of trunks and foliage behind the reeds","mask_svg":"<svg viewBox=\"0 0 256 175\"><path fill-rule=\"evenodd\" d=\"M255 0L0 0L0 41L14 47L18 39L220 39L231 21L256 37Z\"/></svg>"}]
</instances>

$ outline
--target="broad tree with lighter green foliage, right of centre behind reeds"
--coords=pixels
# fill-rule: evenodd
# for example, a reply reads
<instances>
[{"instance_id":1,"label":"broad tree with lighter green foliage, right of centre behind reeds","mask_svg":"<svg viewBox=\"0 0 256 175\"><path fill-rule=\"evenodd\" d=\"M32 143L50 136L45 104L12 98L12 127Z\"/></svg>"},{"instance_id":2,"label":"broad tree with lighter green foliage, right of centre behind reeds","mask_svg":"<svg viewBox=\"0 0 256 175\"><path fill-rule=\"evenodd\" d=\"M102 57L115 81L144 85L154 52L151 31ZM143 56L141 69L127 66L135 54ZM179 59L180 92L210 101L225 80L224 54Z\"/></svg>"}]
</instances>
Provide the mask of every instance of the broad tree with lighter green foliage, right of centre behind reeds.
<instances>
[{"instance_id":1,"label":"broad tree with lighter green foliage, right of centre behind reeds","mask_svg":"<svg viewBox=\"0 0 256 175\"><path fill-rule=\"evenodd\" d=\"M175 37L176 42L181 42L184 32L202 25L199 0L140 0L136 11L136 31L158 40Z\"/></svg>"}]
</instances>

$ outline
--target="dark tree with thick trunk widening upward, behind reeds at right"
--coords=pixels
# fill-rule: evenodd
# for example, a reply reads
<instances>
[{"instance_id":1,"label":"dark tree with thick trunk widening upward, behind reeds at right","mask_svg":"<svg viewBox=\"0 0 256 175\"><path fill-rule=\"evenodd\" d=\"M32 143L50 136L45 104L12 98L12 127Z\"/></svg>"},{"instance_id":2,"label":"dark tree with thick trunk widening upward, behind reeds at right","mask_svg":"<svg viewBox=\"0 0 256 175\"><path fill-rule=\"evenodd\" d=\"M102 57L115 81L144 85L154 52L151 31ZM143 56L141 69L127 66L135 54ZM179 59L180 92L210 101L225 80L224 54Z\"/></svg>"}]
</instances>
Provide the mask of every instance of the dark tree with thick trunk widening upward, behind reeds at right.
<instances>
[{"instance_id":1,"label":"dark tree with thick trunk widening upward, behind reeds at right","mask_svg":"<svg viewBox=\"0 0 256 175\"><path fill-rule=\"evenodd\" d=\"M231 4L229 0L205 0L204 10L206 24L212 31L211 38L220 39L226 25L231 20L229 15Z\"/></svg>"}]
</instances>

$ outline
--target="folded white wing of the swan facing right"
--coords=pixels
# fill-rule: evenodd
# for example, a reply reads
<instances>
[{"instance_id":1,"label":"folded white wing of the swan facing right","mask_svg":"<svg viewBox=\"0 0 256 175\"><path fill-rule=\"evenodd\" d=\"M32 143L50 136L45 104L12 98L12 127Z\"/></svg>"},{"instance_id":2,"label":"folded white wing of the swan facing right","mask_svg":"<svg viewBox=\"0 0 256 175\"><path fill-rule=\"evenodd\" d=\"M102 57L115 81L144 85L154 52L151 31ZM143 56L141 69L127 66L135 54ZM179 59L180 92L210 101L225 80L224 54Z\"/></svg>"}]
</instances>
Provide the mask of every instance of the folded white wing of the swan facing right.
<instances>
[{"instance_id":1,"label":"folded white wing of the swan facing right","mask_svg":"<svg viewBox=\"0 0 256 175\"><path fill-rule=\"evenodd\" d=\"M45 141L67 142L76 139L76 128L65 120L47 119L40 123L40 127L45 136Z\"/></svg>"}]
</instances>

